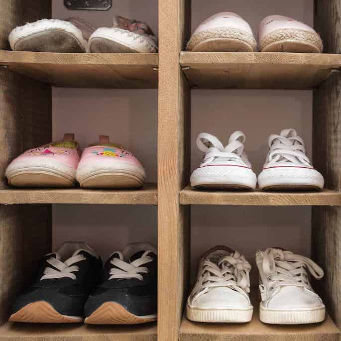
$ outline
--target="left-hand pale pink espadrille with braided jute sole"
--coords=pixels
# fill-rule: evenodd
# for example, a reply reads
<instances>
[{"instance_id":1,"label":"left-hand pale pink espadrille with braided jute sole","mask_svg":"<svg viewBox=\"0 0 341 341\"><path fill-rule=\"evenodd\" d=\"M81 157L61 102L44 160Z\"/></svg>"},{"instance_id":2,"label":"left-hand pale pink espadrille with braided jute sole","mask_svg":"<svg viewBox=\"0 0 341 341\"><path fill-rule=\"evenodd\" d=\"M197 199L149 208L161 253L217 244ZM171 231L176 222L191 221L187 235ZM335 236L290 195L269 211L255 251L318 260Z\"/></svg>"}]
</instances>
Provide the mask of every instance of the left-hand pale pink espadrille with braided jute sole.
<instances>
[{"instance_id":1,"label":"left-hand pale pink espadrille with braided jute sole","mask_svg":"<svg viewBox=\"0 0 341 341\"><path fill-rule=\"evenodd\" d=\"M252 52L256 46L251 27L242 17L221 12L198 26L187 45L187 51Z\"/></svg>"}]
</instances>

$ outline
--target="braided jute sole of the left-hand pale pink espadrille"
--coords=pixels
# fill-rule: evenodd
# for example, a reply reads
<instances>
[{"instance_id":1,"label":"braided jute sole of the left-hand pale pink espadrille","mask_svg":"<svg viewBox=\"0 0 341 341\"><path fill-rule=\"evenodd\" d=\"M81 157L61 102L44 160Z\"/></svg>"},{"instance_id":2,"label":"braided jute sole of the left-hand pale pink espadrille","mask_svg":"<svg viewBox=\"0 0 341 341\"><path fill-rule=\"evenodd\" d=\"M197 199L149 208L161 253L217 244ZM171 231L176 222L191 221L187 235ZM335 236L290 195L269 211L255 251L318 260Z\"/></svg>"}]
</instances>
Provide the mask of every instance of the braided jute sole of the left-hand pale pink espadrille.
<instances>
[{"instance_id":1,"label":"braided jute sole of the left-hand pale pink espadrille","mask_svg":"<svg viewBox=\"0 0 341 341\"><path fill-rule=\"evenodd\" d=\"M217 27L194 34L187 50L192 52L252 52L256 48L252 35L243 30Z\"/></svg>"}]
</instances>

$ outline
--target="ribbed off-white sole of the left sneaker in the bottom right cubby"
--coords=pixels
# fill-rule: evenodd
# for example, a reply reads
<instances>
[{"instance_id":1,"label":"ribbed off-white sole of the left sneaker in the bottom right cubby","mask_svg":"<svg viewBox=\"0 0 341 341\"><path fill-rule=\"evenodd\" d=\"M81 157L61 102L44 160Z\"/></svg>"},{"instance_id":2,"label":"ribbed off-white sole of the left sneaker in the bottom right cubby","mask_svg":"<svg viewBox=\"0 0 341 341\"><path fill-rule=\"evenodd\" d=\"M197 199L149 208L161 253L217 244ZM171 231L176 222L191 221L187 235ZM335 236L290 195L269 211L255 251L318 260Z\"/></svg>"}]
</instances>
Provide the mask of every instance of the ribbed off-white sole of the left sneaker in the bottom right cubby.
<instances>
[{"instance_id":1,"label":"ribbed off-white sole of the left sneaker in the bottom right cubby","mask_svg":"<svg viewBox=\"0 0 341 341\"><path fill-rule=\"evenodd\" d=\"M253 307L246 309L197 309L187 306L188 320L207 323L245 323L252 319Z\"/></svg>"}]
</instances>

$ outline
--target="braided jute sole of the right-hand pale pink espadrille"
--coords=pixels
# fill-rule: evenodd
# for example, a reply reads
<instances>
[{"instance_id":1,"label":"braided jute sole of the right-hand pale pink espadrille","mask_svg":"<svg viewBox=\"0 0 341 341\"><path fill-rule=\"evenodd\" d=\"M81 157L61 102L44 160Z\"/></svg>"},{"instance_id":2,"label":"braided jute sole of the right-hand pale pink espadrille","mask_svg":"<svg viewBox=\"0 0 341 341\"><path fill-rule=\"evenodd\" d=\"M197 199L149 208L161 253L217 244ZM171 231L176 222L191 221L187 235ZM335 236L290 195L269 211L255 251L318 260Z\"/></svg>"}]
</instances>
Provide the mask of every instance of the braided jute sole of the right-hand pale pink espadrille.
<instances>
[{"instance_id":1,"label":"braided jute sole of the right-hand pale pink espadrille","mask_svg":"<svg viewBox=\"0 0 341 341\"><path fill-rule=\"evenodd\" d=\"M321 53L323 43L317 33L300 29L279 29L259 42L261 52Z\"/></svg>"}]
</instances>

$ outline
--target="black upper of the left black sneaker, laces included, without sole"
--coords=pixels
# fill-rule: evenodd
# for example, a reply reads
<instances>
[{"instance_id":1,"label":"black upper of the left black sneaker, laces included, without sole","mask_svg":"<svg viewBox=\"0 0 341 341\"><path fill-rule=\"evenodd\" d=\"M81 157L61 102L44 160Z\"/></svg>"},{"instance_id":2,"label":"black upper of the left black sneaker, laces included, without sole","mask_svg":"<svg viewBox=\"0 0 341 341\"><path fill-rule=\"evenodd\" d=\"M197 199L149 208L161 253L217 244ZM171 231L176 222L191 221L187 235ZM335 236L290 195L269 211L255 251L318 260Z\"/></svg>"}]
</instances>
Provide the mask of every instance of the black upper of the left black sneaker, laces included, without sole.
<instances>
[{"instance_id":1,"label":"black upper of the left black sneaker, laces included, without sole","mask_svg":"<svg viewBox=\"0 0 341 341\"><path fill-rule=\"evenodd\" d=\"M68 258L63 257L70 251L73 253ZM102 260L88 245L64 243L60 251L43 257L37 278L17 297L12 314L27 304L45 301L59 314L83 317L85 302L100 282L101 273Z\"/></svg>"}]
</instances>

